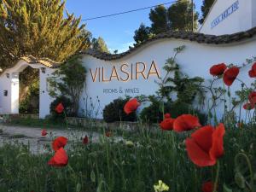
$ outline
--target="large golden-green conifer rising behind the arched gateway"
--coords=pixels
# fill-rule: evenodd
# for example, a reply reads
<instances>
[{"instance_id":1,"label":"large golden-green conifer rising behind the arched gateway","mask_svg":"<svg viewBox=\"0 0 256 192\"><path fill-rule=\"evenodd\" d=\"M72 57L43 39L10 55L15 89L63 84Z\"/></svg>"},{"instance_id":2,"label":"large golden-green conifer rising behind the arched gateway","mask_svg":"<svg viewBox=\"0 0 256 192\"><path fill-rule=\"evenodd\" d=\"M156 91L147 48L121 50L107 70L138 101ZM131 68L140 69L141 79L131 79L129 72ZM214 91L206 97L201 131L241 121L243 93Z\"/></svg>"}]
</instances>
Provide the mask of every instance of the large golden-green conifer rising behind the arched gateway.
<instances>
[{"instance_id":1,"label":"large golden-green conifer rising behind the arched gateway","mask_svg":"<svg viewBox=\"0 0 256 192\"><path fill-rule=\"evenodd\" d=\"M0 0L0 63L10 67L24 55L64 61L88 47L81 18L61 0Z\"/></svg>"}]
</instances>

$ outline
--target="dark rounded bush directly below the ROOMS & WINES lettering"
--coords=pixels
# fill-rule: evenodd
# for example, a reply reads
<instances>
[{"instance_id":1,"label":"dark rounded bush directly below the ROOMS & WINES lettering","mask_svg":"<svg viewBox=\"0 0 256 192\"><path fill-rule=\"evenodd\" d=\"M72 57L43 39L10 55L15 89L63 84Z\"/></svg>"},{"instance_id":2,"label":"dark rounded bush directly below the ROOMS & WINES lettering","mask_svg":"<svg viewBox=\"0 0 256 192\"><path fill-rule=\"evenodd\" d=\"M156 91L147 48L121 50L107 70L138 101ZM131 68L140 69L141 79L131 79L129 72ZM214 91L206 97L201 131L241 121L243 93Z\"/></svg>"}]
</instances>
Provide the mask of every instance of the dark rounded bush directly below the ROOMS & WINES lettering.
<instances>
[{"instance_id":1,"label":"dark rounded bush directly below the ROOMS & WINES lettering","mask_svg":"<svg viewBox=\"0 0 256 192\"><path fill-rule=\"evenodd\" d=\"M128 102L129 99L129 97L126 97L125 99L118 98L106 105L106 107L103 109L103 119L107 123L112 123L115 121L136 121L136 112L128 115L124 112L125 103Z\"/></svg>"}]
</instances>

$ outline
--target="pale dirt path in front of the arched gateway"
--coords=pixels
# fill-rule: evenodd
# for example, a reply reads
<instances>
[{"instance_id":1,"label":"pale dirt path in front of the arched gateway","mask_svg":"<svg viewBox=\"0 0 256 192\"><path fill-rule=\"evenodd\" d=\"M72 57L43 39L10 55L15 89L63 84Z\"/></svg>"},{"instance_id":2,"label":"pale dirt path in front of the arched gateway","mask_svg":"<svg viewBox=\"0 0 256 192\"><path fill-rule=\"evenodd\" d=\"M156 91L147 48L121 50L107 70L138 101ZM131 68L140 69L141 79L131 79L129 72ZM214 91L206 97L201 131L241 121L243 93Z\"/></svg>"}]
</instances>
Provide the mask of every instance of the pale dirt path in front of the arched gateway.
<instances>
[{"instance_id":1,"label":"pale dirt path in front of the arched gateway","mask_svg":"<svg viewBox=\"0 0 256 192\"><path fill-rule=\"evenodd\" d=\"M49 145L54 137L67 137L69 141L82 142L84 136L90 136L92 143L98 142L102 134L88 131L75 130L54 130L47 129L49 133L46 137L41 136L41 128L32 128L24 126L1 125L0 123L0 146L3 143L23 143L26 144L33 154L45 153L46 145ZM122 140L121 137L116 137L116 141ZM67 144L68 148L68 144Z\"/></svg>"}]
</instances>

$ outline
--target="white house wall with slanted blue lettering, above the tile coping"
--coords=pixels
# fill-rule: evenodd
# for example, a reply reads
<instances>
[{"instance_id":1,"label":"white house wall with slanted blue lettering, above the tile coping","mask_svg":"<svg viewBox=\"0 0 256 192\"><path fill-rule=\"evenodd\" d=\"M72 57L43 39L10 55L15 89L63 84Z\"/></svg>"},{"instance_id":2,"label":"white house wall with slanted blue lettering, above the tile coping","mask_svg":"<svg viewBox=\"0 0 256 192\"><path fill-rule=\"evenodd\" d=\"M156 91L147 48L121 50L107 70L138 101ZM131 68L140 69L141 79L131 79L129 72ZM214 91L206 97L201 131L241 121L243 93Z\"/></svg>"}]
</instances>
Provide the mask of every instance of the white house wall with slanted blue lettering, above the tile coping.
<instances>
[{"instance_id":1,"label":"white house wall with slanted blue lettering, above the tile coping","mask_svg":"<svg viewBox=\"0 0 256 192\"><path fill-rule=\"evenodd\" d=\"M212 27L212 21L217 19L219 15L222 15L236 1L238 1L238 9L220 21L217 26ZM223 35L247 31L256 26L255 7L256 0L217 0L199 32Z\"/></svg>"}]
</instances>

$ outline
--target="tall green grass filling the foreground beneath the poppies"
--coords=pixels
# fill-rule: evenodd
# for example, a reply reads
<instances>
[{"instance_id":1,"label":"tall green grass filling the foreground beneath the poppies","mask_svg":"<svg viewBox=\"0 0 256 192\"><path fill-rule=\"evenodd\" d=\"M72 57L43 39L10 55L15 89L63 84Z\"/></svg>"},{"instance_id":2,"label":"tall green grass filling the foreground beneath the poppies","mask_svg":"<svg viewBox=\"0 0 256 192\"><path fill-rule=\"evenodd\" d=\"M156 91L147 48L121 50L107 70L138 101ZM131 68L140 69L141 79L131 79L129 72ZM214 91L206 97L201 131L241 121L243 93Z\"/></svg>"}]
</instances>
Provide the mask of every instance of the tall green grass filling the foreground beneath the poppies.
<instances>
[{"instance_id":1,"label":"tall green grass filling the foreground beneath the poppies","mask_svg":"<svg viewBox=\"0 0 256 192\"><path fill-rule=\"evenodd\" d=\"M26 146L6 144L0 148L0 192L150 192L163 180L172 192L199 192L201 183L214 177L215 167L198 168L188 158L184 139L189 133L147 131L125 133L135 143L72 143L64 168L47 165L53 153L30 154ZM256 172L256 127L226 127L224 157L220 159L219 190L223 183L238 190L234 182L236 154L247 154ZM242 160L244 162L244 160ZM242 166L247 175L247 166Z\"/></svg>"}]
</instances>

